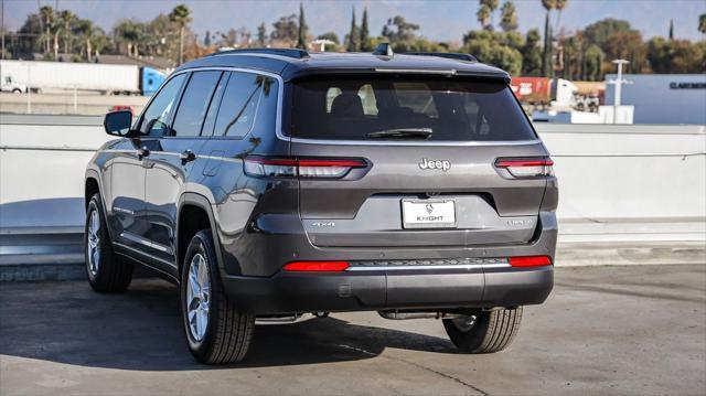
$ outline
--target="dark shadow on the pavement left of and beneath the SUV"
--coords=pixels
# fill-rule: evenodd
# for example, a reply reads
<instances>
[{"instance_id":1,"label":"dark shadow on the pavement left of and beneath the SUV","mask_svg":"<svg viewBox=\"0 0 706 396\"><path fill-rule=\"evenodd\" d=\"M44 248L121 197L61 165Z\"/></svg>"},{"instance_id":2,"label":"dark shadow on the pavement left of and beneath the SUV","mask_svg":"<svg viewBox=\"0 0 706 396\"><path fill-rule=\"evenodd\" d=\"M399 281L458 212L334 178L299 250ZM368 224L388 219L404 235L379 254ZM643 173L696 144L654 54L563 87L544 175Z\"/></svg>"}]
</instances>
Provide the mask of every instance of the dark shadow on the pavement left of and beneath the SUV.
<instances>
[{"instance_id":1,"label":"dark shadow on the pavement left of and beneath the SUV","mask_svg":"<svg viewBox=\"0 0 706 396\"><path fill-rule=\"evenodd\" d=\"M272 367L371 358L386 347L454 353L441 338L360 325L336 318L257 325L239 364L204 366L189 353L178 289L138 279L122 295L85 281L0 288L0 354L90 367L183 371Z\"/></svg>"}]
</instances>

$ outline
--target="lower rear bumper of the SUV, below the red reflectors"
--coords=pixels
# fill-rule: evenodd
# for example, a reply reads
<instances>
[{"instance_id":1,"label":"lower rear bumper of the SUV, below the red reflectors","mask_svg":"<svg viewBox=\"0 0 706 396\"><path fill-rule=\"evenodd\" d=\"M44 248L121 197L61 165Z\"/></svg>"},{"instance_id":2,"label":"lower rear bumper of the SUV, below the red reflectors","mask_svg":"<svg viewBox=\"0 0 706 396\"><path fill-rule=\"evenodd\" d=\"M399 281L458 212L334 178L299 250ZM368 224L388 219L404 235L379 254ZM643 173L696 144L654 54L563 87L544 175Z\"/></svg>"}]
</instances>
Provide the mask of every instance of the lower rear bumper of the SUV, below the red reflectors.
<instances>
[{"instance_id":1,"label":"lower rear bumper of the SUV, below the red reflectors","mask_svg":"<svg viewBox=\"0 0 706 396\"><path fill-rule=\"evenodd\" d=\"M256 314L386 309L454 309L538 304L554 286L554 267L280 271L223 277L228 298Z\"/></svg>"}]
</instances>

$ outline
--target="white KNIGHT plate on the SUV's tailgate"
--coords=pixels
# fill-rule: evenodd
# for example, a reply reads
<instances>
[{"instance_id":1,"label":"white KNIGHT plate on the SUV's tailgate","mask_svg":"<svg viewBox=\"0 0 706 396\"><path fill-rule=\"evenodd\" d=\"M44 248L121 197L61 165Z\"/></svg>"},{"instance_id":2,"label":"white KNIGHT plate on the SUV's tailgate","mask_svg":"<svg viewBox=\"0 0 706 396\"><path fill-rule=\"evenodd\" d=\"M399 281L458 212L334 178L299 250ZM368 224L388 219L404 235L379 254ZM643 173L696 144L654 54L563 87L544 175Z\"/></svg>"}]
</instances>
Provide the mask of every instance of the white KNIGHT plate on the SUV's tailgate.
<instances>
[{"instance_id":1,"label":"white KNIGHT plate on the SUV's tailgate","mask_svg":"<svg viewBox=\"0 0 706 396\"><path fill-rule=\"evenodd\" d=\"M405 228L456 227L453 200L403 200L402 217Z\"/></svg>"}]
</instances>

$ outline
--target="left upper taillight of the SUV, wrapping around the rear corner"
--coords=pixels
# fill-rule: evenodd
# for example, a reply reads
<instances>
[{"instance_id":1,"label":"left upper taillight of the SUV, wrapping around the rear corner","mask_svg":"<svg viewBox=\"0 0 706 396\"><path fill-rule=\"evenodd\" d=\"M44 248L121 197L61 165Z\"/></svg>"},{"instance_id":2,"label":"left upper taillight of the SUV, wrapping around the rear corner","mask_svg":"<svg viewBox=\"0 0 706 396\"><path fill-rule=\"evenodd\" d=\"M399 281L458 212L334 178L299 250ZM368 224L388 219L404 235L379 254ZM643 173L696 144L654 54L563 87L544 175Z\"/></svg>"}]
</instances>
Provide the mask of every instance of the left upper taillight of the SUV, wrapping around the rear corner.
<instances>
[{"instance_id":1,"label":"left upper taillight of the SUV, wrapping around the rear corner","mask_svg":"<svg viewBox=\"0 0 706 396\"><path fill-rule=\"evenodd\" d=\"M351 169L366 168L362 159L271 158L248 156L243 162L246 174L277 178L340 179Z\"/></svg>"}]
</instances>

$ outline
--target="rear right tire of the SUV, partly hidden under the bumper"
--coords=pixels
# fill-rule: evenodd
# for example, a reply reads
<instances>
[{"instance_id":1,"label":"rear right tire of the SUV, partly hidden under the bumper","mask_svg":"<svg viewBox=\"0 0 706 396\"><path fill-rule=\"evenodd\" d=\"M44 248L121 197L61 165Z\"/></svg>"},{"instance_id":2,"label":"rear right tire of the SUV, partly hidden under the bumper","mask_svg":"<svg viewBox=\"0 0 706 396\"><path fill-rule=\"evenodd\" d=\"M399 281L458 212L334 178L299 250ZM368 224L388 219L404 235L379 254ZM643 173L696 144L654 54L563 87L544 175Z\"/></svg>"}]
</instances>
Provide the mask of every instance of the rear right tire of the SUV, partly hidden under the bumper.
<instances>
[{"instance_id":1,"label":"rear right tire of the SUV, partly hidden under the bumper","mask_svg":"<svg viewBox=\"0 0 706 396\"><path fill-rule=\"evenodd\" d=\"M443 328L451 342L463 353L495 353L512 343L521 321L522 307L517 307L482 311L474 317L445 319Z\"/></svg>"}]
</instances>

